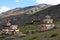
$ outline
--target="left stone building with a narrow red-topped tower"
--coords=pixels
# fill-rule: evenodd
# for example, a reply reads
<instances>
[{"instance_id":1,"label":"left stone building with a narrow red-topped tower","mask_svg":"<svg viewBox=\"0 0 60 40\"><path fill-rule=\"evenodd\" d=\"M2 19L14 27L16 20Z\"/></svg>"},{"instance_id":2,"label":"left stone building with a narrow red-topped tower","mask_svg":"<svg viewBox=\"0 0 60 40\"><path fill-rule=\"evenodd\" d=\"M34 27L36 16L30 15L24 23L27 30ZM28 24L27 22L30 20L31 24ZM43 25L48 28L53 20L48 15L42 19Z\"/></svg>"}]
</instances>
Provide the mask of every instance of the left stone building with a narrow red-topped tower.
<instances>
[{"instance_id":1,"label":"left stone building with a narrow red-topped tower","mask_svg":"<svg viewBox=\"0 0 60 40\"><path fill-rule=\"evenodd\" d=\"M10 20L7 19L6 20L6 24L3 25L2 33L3 34L9 34L9 35L13 35L13 34L19 33L18 25L12 25L10 23Z\"/></svg>"}]
</instances>

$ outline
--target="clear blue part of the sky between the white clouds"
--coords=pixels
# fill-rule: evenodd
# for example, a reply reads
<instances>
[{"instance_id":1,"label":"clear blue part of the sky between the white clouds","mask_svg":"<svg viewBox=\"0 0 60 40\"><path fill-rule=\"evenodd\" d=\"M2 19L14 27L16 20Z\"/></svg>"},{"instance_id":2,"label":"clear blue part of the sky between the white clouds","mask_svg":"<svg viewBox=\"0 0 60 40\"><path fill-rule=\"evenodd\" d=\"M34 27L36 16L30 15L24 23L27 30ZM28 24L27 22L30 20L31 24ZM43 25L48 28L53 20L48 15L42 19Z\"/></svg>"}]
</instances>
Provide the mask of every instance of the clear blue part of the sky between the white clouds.
<instances>
[{"instance_id":1,"label":"clear blue part of the sky between the white clouds","mask_svg":"<svg viewBox=\"0 0 60 40\"><path fill-rule=\"evenodd\" d=\"M0 7L7 6L10 8L15 7L26 7L31 5L36 5L37 3L33 0L0 0Z\"/></svg>"}]
</instances>

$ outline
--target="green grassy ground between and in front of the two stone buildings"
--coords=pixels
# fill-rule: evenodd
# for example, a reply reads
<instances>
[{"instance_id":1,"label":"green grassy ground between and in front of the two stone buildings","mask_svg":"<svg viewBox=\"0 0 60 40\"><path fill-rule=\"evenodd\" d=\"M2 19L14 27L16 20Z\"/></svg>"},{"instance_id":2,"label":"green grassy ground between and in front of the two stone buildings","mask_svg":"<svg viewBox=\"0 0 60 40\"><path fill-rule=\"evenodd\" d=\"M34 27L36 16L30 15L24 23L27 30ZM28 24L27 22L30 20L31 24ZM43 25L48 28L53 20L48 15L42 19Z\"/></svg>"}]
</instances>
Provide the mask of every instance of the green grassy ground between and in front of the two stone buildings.
<instances>
[{"instance_id":1,"label":"green grassy ground between and in front of the two stone buildings","mask_svg":"<svg viewBox=\"0 0 60 40\"><path fill-rule=\"evenodd\" d=\"M0 40L60 40L60 29L53 29L50 31L39 32L35 31L33 33L27 33L28 30L40 30L40 25L32 24L25 27L20 27L20 32L26 34L26 36L17 35L0 35Z\"/></svg>"}]
</instances>

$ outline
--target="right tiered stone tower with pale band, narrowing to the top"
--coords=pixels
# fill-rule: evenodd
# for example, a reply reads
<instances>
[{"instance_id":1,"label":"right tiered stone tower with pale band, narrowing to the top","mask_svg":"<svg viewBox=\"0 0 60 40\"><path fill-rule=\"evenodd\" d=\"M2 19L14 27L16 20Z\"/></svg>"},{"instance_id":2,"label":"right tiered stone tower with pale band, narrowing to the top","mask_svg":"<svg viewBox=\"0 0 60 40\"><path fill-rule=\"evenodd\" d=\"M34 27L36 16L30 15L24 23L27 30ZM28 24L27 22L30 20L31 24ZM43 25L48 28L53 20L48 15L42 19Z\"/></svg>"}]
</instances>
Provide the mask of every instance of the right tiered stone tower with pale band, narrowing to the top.
<instances>
[{"instance_id":1,"label":"right tiered stone tower with pale band, narrowing to the top","mask_svg":"<svg viewBox=\"0 0 60 40\"><path fill-rule=\"evenodd\" d=\"M53 19L51 19L51 16L45 16L45 19L43 19L43 24L41 24L41 31L53 29L54 27L55 24L53 24Z\"/></svg>"}]
</instances>

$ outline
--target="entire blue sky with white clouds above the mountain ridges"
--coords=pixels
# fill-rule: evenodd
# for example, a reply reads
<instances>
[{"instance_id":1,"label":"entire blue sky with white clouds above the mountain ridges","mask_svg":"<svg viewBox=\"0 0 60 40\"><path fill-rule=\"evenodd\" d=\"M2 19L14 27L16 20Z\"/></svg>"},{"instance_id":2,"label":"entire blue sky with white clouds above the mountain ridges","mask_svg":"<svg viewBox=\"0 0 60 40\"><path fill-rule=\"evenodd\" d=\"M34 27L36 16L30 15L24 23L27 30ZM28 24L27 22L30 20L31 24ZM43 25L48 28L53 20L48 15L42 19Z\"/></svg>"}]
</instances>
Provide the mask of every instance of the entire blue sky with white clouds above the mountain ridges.
<instances>
[{"instance_id":1,"label":"entire blue sky with white clouds above the mountain ridges","mask_svg":"<svg viewBox=\"0 0 60 40\"><path fill-rule=\"evenodd\" d=\"M0 0L0 13L16 7L27 7L38 4L60 4L60 0Z\"/></svg>"}]
</instances>

